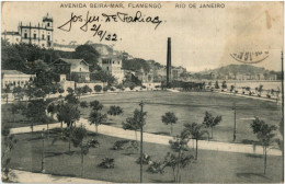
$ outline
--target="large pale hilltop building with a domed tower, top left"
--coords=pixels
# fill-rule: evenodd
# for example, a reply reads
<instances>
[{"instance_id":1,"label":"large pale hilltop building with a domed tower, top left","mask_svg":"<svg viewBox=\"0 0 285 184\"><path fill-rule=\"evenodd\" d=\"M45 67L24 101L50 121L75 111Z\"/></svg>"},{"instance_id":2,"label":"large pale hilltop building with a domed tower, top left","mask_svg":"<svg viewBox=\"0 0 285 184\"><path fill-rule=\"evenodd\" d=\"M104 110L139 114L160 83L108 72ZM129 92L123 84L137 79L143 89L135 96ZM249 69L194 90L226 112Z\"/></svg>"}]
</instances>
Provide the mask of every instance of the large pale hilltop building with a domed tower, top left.
<instances>
[{"instance_id":1,"label":"large pale hilltop building with a domed tower, top left","mask_svg":"<svg viewBox=\"0 0 285 184\"><path fill-rule=\"evenodd\" d=\"M54 20L47 13L37 25L19 23L18 32L3 32L2 38L11 44L33 44L44 48L53 48Z\"/></svg>"}]
</instances>

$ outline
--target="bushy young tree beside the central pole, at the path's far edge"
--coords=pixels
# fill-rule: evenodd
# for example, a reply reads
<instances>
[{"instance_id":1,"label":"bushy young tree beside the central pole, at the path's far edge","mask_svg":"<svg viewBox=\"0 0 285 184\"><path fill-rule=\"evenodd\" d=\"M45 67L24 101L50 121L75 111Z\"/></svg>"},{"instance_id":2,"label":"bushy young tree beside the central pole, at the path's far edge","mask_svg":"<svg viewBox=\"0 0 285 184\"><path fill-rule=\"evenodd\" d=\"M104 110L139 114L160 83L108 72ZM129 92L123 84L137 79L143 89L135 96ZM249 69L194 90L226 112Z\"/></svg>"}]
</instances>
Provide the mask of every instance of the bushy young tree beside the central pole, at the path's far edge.
<instances>
[{"instance_id":1,"label":"bushy young tree beside the central pole, at the path's far edge","mask_svg":"<svg viewBox=\"0 0 285 184\"><path fill-rule=\"evenodd\" d=\"M137 130L140 129L141 126L146 124L145 116L147 115L147 112L140 113L139 110L135 110L133 117L127 117L126 122L123 122L123 128L129 129L135 131L136 140L137 140Z\"/></svg>"}]
</instances>

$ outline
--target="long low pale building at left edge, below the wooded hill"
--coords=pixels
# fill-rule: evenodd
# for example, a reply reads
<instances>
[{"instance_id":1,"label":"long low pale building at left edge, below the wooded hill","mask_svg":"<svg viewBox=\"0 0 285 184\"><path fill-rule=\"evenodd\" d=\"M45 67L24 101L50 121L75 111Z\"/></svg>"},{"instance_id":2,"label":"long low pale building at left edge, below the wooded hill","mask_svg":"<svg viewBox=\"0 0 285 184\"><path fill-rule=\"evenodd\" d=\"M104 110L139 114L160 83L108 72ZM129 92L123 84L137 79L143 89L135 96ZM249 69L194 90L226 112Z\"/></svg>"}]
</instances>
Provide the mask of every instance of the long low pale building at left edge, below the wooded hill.
<instances>
[{"instance_id":1,"label":"long low pale building at left edge, below the wooded hill","mask_svg":"<svg viewBox=\"0 0 285 184\"><path fill-rule=\"evenodd\" d=\"M35 74L25 74L18 70L2 70L1 73L2 89L5 89L7 85L23 88L36 77Z\"/></svg>"}]
</instances>

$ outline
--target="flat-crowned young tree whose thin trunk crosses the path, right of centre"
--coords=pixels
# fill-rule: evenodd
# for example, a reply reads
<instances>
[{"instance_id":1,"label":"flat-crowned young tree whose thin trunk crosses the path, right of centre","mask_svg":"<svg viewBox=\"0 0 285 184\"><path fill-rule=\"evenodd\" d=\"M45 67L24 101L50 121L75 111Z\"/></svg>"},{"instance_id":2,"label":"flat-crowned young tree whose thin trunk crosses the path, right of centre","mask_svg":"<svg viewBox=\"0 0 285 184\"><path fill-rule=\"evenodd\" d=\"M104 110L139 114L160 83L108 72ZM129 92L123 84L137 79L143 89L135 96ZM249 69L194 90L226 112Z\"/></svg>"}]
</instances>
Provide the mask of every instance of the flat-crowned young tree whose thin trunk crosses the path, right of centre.
<instances>
[{"instance_id":1,"label":"flat-crowned young tree whose thin trunk crosses the path, right of centre","mask_svg":"<svg viewBox=\"0 0 285 184\"><path fill-rule=\"evenodd\" d=\"M203 124L184 124L184 129L181 135L182 137L191 137L192 139L196 140L196 160L198 158L198 140L203 139L205 134L208 136L208 131L204 129Z\"/></svg>"}]
</instances>

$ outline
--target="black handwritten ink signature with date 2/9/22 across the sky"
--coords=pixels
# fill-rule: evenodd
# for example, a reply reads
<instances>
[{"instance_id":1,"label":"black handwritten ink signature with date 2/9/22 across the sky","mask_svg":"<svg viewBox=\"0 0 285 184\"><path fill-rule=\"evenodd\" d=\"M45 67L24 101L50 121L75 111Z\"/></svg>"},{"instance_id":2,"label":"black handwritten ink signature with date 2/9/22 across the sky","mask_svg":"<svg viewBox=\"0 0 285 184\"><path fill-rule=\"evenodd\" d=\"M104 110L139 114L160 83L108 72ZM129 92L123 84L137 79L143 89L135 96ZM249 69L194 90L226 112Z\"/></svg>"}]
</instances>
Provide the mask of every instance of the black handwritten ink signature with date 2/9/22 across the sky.
<instances>
[{"instance_id":1,"label":"black handwritten ink signature with date 2/9/22 across the sky","mask_svg":"<svg viewBox=\"0 0 285 184\"><path fill-rule=\"evenodd\" d=\"M102 18L102 19L101 19ZM82 15L76 15L71 13L70 20L68 20L62 25L58 26L59 30L65 32L70 32L72 28L73 23L83 23L80 26L80 30L83 32L91 31L93 32L93 36L99 36L100 42L111 41L116 42L117 41L117 34L116 33L110 33L109 31L104 30L102 27L101 22L104 23L116 23L116 22L123 22L123 23L150 23L155 24L155 30L162 23L159 16L145 16L140 11L137 11L135 15L129 15L127 13L116 12L115 14L105 14L102 13L101 15L90 15L89 11L87 12L86 18ZM91 24L91 28L89 30L89 25Z\"/></svg>"}]
</instances>

